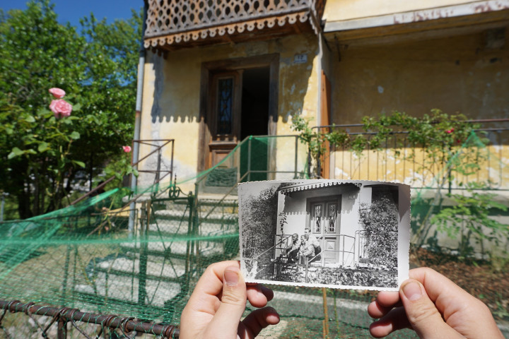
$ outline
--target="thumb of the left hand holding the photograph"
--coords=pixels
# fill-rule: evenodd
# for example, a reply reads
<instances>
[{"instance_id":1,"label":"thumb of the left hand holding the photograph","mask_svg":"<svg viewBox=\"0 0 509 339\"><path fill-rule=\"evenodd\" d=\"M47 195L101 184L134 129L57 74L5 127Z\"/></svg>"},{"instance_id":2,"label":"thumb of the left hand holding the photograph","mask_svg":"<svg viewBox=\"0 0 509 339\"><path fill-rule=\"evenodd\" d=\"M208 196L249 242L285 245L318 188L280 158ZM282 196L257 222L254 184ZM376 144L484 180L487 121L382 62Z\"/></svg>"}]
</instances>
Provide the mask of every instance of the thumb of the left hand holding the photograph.
<instances>
[{"instance_id":1,"label":"thumb of the left hand holding the photograph","mask_svg":"<svg viewBox=\"0 0 509 339\"><path fill-rule=\"evenodd\" d=\"M217 338L237 338L240 318L245 311L247 292L244 278L237 266L228 266L223 273L221 304L211 323L221 331Z\"/></svg>"}]
</instances>

